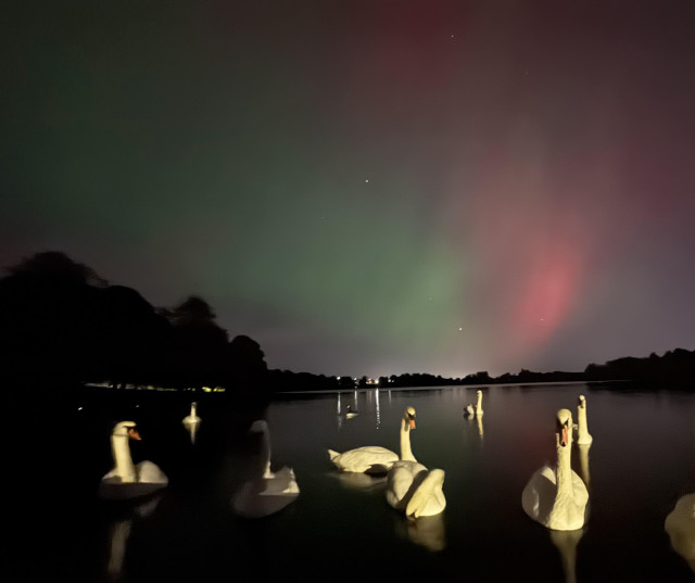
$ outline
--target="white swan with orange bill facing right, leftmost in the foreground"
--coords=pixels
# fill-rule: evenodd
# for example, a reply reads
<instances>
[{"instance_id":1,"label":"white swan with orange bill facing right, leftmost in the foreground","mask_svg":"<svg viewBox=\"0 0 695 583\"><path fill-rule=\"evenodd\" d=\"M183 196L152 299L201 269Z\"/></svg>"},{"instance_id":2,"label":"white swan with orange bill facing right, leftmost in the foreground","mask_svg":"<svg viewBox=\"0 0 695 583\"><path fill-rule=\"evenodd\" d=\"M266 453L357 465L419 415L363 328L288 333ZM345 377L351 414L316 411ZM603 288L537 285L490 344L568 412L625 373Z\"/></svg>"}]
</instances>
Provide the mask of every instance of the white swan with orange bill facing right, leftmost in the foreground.
<instances>
[{"instance_id":1,"label":"white swan with orange bill facing right, leftmost in the foreground","mask_svg":"<svg viewBox=\"0 0 695 583\"><path fill-rule=\"evenodd\" d=\"M147 496L168 484L166 474L152 461L132 464L129 440L140 441L134 421L121 421L111 432L114 468L99 484L99 495L105 499L131 499Z\"/></svg>"}]
</instances>

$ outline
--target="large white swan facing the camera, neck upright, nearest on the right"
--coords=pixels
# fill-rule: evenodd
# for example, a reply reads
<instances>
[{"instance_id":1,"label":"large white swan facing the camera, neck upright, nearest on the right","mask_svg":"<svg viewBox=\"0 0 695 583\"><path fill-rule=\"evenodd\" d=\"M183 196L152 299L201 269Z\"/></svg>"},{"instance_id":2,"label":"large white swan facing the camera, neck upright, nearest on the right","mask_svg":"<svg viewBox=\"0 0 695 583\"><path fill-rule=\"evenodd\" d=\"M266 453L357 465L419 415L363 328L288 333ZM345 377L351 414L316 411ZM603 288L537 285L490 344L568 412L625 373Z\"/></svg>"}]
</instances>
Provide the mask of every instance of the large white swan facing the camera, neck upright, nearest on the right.
<instances>
[{"instance_id":1,"label":"large white swan facing the camera, neck upright, nearest on the right","mask_svg":"<svg viewBox=\"0 0 695 583\"><path fill-rule=\"evenodd\" d=\"M533 520L551 530L572 531L584 525L589 492L571 468L572 414L557 411L557 466L539 469L523 489L521 506Z\"/></svg>"}]
</instances>

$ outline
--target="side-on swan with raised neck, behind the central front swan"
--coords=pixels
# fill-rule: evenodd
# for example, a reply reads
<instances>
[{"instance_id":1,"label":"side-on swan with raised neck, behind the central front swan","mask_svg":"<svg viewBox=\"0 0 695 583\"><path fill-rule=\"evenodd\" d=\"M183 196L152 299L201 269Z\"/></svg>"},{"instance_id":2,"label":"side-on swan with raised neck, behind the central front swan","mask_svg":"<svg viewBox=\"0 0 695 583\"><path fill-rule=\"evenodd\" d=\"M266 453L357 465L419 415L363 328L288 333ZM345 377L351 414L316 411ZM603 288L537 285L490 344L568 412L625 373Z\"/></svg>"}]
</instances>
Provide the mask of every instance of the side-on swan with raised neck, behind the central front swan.
<instances>
[{"instance_id":1,"label":"side-on swan with raised neck, behind the central front swan","mask_svg":"<svg viewBox=\"0 0 695 583\"><path fill-rule=\"evenodd\" d=\"M401 457L395 452L379 445L365 445L342 454L328 449L328 456L342 471L383 474L399 459L415 460L410 449L412 429L415 429L415 408L408 407L401 419Z\"/></svg>"}]
</instances>

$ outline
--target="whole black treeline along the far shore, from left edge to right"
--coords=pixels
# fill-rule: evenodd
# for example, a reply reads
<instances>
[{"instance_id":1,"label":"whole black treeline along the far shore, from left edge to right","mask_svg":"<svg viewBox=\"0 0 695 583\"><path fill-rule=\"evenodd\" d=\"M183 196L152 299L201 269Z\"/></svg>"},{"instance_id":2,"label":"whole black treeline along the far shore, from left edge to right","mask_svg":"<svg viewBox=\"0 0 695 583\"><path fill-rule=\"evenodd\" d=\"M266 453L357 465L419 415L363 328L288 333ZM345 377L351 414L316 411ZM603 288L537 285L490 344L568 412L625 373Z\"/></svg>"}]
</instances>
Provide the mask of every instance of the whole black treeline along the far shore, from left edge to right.
<instances>
[{"instance_id":1,"label":"whole black treeline along the far shore, from left edge to right","mask_svg":"<svg viewBox=\"0 0 695 583\"><path fill-rule=\"evenodd\" d=\"M224 386L237 403L267 403L277 392L400 386L628 380L658 386L695 382L695 351L624 357L581 372L465 378L405 373L327 377L268 369L257 342L229 339L212 307L189 296L155 308L136 290L112 286L60 252L25 258L0 279L0 383L14 389L76 383Z\"/></svg>"}]
</instances>

